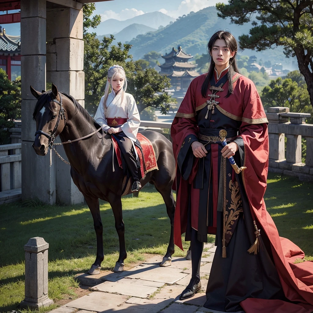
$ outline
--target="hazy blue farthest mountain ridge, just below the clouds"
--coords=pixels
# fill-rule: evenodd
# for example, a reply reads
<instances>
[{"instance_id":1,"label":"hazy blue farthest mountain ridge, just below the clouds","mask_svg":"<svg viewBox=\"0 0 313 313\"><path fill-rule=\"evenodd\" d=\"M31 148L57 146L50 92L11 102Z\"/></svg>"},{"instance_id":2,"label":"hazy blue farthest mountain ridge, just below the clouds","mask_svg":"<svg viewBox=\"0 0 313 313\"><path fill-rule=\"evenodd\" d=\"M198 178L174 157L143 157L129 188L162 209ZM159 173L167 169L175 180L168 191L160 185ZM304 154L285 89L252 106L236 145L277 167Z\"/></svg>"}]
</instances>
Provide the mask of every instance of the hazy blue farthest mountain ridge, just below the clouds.
<instances>
[{"instance_id":1,"label":"hazy blue farthest mountain ridge, just below the clouds","mask_svg":"<svg viewBox=\"0 0 313 313\"><path fill-rule=\"evenodd\" d=\"M142 24L151 28L158 29L159 26L166 26L173 21L175 21L175 18L172 18L162 12L156 11L138 15L125 21L119 21L117 19L110 18L104 22L101 22L100 25L92 31L95 31L97 35L103 35L108 33L116 34L132 24ZM127 41L131 39L132 37L129 38Z\"/></svg>"}]
</instances>

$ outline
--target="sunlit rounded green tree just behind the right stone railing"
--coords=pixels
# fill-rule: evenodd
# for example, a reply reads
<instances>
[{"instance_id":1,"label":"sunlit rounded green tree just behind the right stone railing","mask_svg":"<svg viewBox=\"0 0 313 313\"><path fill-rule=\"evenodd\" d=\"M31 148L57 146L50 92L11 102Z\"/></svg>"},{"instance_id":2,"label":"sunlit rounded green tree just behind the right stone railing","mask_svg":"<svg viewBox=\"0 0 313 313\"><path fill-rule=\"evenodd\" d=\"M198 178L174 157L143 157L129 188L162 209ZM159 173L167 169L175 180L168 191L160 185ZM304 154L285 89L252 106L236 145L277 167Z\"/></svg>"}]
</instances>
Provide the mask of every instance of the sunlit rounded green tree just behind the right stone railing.
<instances>
[{"instance_id":1,"label":"sunlit rounded green tree just behind the right stone railing","mask_svg":"<svg viewBox=\"0 0 313 313\"><path fill-rule=\"evenodd\" d=\"M309 93L301 76L299 71L292 71L285 79L279 77L271 80L262 91L261 99L264 107L285 106L290 108L290 112L311 113Z\"/></svg>"}]
</instances>

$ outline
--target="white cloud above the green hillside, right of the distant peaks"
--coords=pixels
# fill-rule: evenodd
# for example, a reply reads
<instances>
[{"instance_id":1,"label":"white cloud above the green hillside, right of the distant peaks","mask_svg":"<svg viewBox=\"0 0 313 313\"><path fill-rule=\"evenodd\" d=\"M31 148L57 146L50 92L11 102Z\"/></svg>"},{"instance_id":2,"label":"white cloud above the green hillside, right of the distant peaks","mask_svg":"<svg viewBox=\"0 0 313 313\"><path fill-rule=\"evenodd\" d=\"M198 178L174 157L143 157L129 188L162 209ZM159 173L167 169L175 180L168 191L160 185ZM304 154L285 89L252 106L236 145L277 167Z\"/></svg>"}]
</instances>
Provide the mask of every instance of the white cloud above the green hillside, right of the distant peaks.
<instances>
[{"instance_id":1,"label":"white cloud above the green hillside, right of the distant peaks","mask_svg":"<svg viewBox=\"0 0 313 313\"><path fill-rule=\"evenodd\" d=\"M159 11L173 18L178 18L184 14L187 15L191 11L197 12L204 8L215 6L218 2L228 3L226 0L184 0L180 3L177 10L166 10L162 8Z\"/></svg>"}]
</instances>

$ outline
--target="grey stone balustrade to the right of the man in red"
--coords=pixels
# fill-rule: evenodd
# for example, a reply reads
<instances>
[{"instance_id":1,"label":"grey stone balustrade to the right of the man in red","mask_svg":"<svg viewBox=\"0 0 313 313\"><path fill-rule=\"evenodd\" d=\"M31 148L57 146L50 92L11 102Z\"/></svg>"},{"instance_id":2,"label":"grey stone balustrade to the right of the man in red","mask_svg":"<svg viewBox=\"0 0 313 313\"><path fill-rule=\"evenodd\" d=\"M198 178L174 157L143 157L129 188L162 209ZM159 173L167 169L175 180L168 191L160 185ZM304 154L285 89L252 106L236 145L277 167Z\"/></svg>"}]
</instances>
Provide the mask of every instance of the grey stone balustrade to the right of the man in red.
<instances>
[{"instance_id":1,"label":"grey stone balustrade to the right of the man in red","mask_svg":"<svg viewBox=\"0 0 313 313\"><path fill-rule=\"evenodd\" d=\"M310 114L273 107L266 116L269 120L269 171L313 180L313 125L305 123ZM302 162L302 138L306 139L305 163Z\"/></svg>"}]
</instances>

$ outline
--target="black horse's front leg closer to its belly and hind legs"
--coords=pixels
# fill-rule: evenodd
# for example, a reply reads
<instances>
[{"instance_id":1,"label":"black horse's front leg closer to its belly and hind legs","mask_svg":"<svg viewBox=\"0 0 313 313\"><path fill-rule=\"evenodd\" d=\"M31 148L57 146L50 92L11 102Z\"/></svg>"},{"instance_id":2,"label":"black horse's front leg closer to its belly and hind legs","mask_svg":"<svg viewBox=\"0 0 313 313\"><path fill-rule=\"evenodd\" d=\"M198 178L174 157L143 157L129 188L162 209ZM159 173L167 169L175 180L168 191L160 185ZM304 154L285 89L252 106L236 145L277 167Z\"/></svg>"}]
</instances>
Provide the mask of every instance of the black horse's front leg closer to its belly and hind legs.
<instances>
[{"instance_id":1,"label":"black horse's front leg closer to its belly and hind legs","mask_svg":"<svg viewBox=\"0 0 313 313\"><path fill-rule=\"evenodd\" d=\"M123 215L122 215L122 201L121 196L118 196L116 194L110 193L108 196L108 201L111 205L114 219L115 219L115 229L118 234L118 239L120 242L120 256L115 263L115 267L113 269L113 272L122 272L124 270L124 260L127 257L126 253L126 245L125 245L125 226L123 222Z\"/></svg>"}]
</instances>

